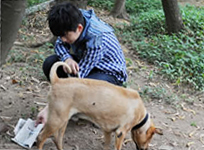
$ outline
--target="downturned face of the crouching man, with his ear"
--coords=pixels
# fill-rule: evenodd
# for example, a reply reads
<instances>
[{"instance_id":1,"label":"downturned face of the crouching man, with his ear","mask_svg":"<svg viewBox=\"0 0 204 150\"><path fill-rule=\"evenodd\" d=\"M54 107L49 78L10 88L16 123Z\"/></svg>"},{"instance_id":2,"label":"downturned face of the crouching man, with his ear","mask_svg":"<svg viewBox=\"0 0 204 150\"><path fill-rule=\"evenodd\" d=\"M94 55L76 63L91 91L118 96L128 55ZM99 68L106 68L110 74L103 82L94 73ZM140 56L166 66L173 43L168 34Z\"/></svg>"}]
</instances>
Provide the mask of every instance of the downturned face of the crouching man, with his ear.
<instances>
[{"instance_id":1,"label":"downturned face of the crouching man, with his ear","mask_svg":"<svg viewBox=\"0 0 204 150\"><path fill-rule=\"evenodd\" d=\"M68 44L73 44L79 38L82 31L83 31L83 26L79 24L76 31L66 32L65 35L61 37L61 40Z\"/></svg>"}]
</instances>

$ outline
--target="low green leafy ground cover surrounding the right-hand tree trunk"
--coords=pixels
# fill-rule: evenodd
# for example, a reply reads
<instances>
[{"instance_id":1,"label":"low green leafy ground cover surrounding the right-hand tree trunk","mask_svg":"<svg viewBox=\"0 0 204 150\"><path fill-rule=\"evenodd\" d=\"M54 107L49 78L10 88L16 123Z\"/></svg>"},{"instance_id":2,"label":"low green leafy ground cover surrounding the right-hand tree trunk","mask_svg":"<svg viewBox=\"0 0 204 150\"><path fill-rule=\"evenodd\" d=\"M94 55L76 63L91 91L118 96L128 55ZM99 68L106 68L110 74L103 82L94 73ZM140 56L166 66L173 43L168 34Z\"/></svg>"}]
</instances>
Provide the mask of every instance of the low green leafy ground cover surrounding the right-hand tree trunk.
<instances>
[{"instance_id":1,"label":"low green leafy ground cover surrounding the right-hand tree trunk","mask_svg":"<svg viewBox=\"0 0 204 150\"><path fill-rule=\"evenodd\" d=\"M181 8L185 29L168 35L162 10L132 15L131 25L117 29L125 44L141 58L160 67L175 84L204 89L204 8Z\"/></svg>"}]
</instances>

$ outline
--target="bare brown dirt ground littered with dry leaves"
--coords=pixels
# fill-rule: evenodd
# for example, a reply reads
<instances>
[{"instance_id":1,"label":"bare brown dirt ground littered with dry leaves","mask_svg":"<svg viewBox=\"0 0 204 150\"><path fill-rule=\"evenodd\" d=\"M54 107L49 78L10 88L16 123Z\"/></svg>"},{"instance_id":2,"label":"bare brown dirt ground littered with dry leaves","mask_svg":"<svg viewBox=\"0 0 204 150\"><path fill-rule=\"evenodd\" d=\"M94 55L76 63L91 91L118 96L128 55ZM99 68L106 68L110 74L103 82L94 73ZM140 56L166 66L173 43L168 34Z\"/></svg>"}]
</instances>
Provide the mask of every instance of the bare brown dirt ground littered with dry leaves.
<instances>
[{"instance_id":1,"label":"bare brown dirt ground littered with dry leaves","mask_svg":"<svg viewBox=\"0 0 204 150\"><path fill-rule=\"evenodd\" d=\"M96 10L96 13L112 25L116 25L115 22L125 22L109 17L105 11ZM43 12L39 14L27 16L29 26L21 26L8 62L0 68L0 149L23 149L11 141L13 127L19 118L35 119L38 111L47 102L46 96L50 85L42 77L41 68L36 66L38 60L30 63L25 61L43 47L28 46L30 43L42 42L51 36L47 25L39 23L45 22L46 14ZM127 88L140 92L155 125L164 132L162 136L154 136L150 150L203 150L204 92L194 91L188 85L174 85L165 77L156 74L159 71L156 66L139 59L128 47L122 45L122 48L129 75ZM22 51L23 61L12 63L9 61L11 55L17 57ZM29 68L30 66L33 70ZM130 134L125 139L123 150L135 149L134 143L129 139ZM92 123L71 120L64 136L64 149L102 150L103 140L101 130ZM113 146L114 138L111 149L114 149ZM37 148L34 145L32 149ZM56 149L51 139L47 140L44 149Z\"/></svg>"}]
</instances>

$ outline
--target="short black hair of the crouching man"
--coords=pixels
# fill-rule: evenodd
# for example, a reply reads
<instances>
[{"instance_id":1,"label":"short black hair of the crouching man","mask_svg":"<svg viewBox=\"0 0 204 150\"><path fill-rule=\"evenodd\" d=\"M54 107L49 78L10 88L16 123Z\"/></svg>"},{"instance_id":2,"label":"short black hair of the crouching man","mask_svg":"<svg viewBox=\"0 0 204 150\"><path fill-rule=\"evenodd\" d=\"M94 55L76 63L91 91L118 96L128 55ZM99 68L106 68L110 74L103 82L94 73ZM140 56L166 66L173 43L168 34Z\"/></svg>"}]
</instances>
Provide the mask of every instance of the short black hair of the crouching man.
<instances>
[{"instance_id":1,"label":"short black hair of the crouching man","mask_svg":"<svg viewBox=\"0 0 204 150\"><path fill-rule=\"evenodd\" d=\"M60 3L53 6L48 13L48 24L55 36L64 36L67 31L76 31L78 24L84 26L81 11L71 3Z\"/></svg>"}]
</instances>

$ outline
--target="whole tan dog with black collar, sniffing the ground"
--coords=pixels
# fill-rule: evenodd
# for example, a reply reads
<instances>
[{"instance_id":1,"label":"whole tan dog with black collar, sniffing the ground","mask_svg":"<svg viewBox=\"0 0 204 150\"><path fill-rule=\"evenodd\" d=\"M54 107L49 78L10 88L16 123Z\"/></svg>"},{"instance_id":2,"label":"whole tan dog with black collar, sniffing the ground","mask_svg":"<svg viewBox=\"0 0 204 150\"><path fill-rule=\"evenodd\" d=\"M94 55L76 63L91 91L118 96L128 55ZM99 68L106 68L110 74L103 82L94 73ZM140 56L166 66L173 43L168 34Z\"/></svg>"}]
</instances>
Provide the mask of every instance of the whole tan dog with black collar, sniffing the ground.
<instances>
[{"instance_id":1,"label":"whole tan dog with black collar, sniffing the ground","mask_svg":"<svg viewBox=\"0 0 204 150\"><path fill-rule=\"evenodd\" d=\"M139 150L148 148L154 133L162 134L162 131L154 127L136 91L105 81L58 78L56 70L61 65L70 70L63 62L55 63L51 69L48 120L38 136L39 149L43 148L49 136L54 135L54 143L58 150L62 150L66 126L74 114L86 115L103 129L105 149L109 149L112 132L115 132L116 150L121 149L130 130Z\"/></svg>"}]
</instances>

